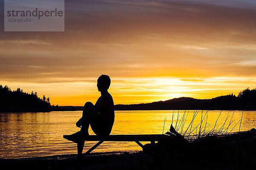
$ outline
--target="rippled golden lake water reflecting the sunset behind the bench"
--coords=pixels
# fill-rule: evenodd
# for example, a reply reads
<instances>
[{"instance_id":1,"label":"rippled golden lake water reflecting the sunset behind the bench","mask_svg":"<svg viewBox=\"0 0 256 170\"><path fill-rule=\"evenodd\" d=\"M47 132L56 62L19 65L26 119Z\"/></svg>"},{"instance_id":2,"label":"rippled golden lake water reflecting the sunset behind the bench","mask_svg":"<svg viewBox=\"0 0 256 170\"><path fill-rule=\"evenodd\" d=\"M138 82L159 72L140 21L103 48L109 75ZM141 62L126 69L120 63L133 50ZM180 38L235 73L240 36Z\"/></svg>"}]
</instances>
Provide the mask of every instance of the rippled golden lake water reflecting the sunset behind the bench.
<instances>
[{"instance_id":1,"label":"rippled golden lake water reflecting the sunset behind the bench","mask_svg":"<svg viewBox=\"0 0 256 170\"><path fill-rule=\"evenodd\" d=\"M115 111L111 134L162 134L171 123L183 132L188 129L195 111ZM76 121L81 111L50 113L0 113L0 158L26 158L76 153L76 144L63 138L79 130ZM222 129L227 132L250 130L256 127L256 111L199 111L192 129L198 133L201 118L204 131ZM188 115L188 116L186 116ZM232 117L233 115L233 117ZM240 119L242 116L241 126ZM187 119L185 119L187 117ZM218 118L219 117L219 118ZM232 119L231 119L232 118ZM166 121L165 121L166 119ZM178 121L177 121L178 119ZM183 119L184 123L181 123ZM217 123L216 120L218 119ZM180 121L179 121L180 120ZM185 121L186 120L186 121ZM207 122L206 122L207 120ZM230 121L231 120L231 121ZM165 122L165 123L164 123ZM177 122L177 124L176 124ZM224 124L225 122L225 124ZM227 125L230 124L227 129ZM164 130L163 130L163 125ZM222 125L224 125L222 127ZM236 126L235 126L236 125ZM227 129L227 130L226 130ZM92 130L89 131L93 134ZM96 142L86 142L84 151ZM137 151L135 142L104 142L93 152Z\"/></svg>"}]
</instances>

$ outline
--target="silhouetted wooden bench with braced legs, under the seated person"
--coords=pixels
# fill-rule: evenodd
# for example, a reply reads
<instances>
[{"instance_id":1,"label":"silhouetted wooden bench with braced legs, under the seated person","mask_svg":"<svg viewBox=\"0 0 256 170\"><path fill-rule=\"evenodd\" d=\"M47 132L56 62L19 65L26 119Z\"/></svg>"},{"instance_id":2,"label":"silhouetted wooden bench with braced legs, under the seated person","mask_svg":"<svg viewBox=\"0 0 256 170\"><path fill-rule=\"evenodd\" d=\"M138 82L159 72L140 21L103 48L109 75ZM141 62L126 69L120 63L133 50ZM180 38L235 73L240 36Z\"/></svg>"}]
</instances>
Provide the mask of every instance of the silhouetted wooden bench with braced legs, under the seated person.
<instances>
[{"instance_id":1,"label":"silhouetted wooden bench with braced legs, under the seated person","mask_svg":"<svg viewBox=\"0 0 256 170\"><path fill-rule=\"evenodd\" d=\"M87 150L83 155L89 154L91 151L93 151L96 147L98 147L100 144L102 144L105 141L111 141L111 142L136 142L140 147L145 148L145 145L143 145L140 142L151 142L152 146L156 146L157 143L161 142L178 142L180 141L180 138L176 136L169 136L166 134L145 134L145 135L109 135L109 136L96 136L96 135L89 135L89 136L70 136L70 135L64 135L63 138L74 141L74 140L81 140L81 141L98 141L93 147L91 147L89 150ZM84 145L77 144L77 152L78 152L78 159L80 159L78 166L81 169L81 156L83 151ZM151 150L148 153L153 156L153 162L157 161L157 153L155 150ZM153 163L154 164L154 163Z\"/></svg>"}]
</instances>

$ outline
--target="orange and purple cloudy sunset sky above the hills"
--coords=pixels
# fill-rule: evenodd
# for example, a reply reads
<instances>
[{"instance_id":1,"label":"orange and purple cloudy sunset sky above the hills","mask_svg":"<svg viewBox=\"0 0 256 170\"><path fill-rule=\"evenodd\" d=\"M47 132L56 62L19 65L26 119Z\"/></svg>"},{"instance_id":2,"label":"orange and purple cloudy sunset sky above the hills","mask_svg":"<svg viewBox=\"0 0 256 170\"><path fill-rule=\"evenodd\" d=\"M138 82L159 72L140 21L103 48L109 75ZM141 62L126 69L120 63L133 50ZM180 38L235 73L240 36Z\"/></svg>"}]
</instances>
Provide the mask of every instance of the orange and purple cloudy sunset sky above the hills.
<instances>
[{"instance_id":1,"label":"orange and purple cloudy sunset sky above the hills","mask_svg":"<svg viewBox=\"0 0 256 170\"><path fill-rule=\"evenodd\" d=\"M204 3L202 3L204 2ZM255 0L65 0L64 32L4 32L0 84L52 105L197 99L256 88Z\"/></svg>"}]
</instances>

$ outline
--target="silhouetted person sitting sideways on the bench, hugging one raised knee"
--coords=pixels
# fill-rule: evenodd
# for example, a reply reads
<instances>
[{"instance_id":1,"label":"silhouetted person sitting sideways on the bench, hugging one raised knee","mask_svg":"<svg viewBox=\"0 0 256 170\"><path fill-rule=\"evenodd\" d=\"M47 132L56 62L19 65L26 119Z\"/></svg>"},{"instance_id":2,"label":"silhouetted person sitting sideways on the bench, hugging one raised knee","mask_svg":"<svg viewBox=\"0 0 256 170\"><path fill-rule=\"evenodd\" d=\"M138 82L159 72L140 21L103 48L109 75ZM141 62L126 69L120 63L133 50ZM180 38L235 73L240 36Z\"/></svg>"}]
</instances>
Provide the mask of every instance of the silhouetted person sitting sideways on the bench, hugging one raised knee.
<instances>
[{"instance_id":1,"label":"silhouetted person sitting sideways on the bench, hugging one raised knee","mask_svg":"<svg viewBox=\"0 0 256 170\"><path fill-rule=\"evenodd\" d=\"M76 122L77 127L81 130L72 134L73 136L87 136L88 129L91 126L93 132L99 136L108 136L111 133L115 113L114 102L111 94L108 93L111 79L108 75L101 75L97 80L97 88L101 96L93 105L92 102L84 104L81 119ZM74 141L76 143L84 143L84 141Z\"/></svg>"}]
</instances>

